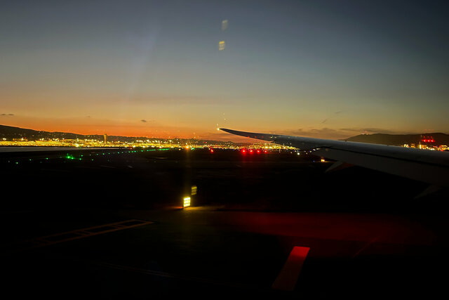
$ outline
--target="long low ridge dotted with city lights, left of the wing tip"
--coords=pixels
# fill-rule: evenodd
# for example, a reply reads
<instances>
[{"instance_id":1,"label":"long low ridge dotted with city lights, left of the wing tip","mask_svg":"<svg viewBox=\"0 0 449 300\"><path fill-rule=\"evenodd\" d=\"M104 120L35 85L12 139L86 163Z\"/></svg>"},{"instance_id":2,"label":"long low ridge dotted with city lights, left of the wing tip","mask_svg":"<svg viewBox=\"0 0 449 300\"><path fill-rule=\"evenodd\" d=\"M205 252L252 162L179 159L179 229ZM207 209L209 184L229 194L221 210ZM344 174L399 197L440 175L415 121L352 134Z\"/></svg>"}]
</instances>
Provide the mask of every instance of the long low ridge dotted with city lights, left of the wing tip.
<instances>
[{"instance_id":1,"label":"long low ridge dotted with city lights, left of the wing tip","mask_svg":"<svg viewBox=\"0 0 449 300\"><path fill-rule=\"evenodd\" d=\"M36 141L40 138L59 138L59 139L70 139L70 140L76 140L76 138L79 138L80 140L97 140L97 141L103 141L104 136L103 135L83 135L83 134L77 134L77 133L69 133L69 132L50 132L50 131L38 131L33 129L25 129L20 127L14 127L14 126L6 126L6 125L0 125L0 139L6 138L7 140L12 140L13 138L26 138L28 141ZM107 136L108 141L122 141L131 143L133 141L166 141L168 138L147 138L146 136ZM171 141L177 141L177 142L185 142L185 141L201 141L203 143L208 144L235 144L232 142L222 142L222 141L210 141L210 140L194 140L194 139L187 139L187 138L170 138Z\"/></svg>"}]
</instances>

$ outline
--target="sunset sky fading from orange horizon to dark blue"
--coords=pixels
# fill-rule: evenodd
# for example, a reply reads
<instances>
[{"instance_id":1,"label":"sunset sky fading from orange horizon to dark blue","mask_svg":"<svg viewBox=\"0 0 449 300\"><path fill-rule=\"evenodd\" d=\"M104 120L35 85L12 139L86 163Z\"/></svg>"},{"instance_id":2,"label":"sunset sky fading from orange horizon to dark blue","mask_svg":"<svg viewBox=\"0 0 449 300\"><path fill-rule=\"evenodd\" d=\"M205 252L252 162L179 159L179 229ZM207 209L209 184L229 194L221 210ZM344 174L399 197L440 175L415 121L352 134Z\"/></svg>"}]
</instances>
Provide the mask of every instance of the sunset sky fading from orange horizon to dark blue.
<instances>
[{"instance_id":1,"label":"sunset sky fading from orange horizon to dark blue","mask_svg":"<svg viewBox=\"0 0 449 300\"><path fill-rule=\"evenodd\" d=\"M449 133L447 1L2 1L0 124ZM225 48L220 50L220 41Z\"/></svg>"}]
</instances>

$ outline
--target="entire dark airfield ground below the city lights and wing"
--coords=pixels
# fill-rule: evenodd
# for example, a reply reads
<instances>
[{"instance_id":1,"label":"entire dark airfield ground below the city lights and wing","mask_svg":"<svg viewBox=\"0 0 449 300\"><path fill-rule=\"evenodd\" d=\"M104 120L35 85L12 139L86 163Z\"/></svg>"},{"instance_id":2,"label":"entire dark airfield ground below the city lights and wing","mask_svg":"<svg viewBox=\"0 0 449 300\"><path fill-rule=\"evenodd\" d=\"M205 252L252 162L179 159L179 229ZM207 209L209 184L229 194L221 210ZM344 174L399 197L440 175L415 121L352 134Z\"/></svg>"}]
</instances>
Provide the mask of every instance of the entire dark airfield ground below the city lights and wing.
<instances>
[{"instance_id":1,"label":"entire dark airfield ground below the city lights and wing","mask_svg":"<svg viewBox=\"0 0 449 300\"><path fill-rule=\"evenodd\" d=\"M447 191L317 157L232 150L2 153L4 295L436 297ZM83 155L81 157L81 155ZM180 209L192 185L194 207ZM293 291L272 288L309 247Z\"/></svg>"}]
</instances>

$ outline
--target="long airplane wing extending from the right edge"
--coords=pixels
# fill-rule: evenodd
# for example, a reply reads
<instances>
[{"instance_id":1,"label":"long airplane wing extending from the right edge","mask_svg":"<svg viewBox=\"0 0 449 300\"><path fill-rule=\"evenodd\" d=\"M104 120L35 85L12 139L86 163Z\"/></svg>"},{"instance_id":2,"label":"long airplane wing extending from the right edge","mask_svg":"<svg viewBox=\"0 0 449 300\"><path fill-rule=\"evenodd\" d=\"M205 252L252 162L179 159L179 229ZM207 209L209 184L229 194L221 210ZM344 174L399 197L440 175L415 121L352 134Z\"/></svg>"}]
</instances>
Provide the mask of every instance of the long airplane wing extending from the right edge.
<instances>
[{"instance_id":1,"label":"long airplane wing extending from the right edge","mask_svg":"<svg viewBox=\"0 0 449 300\"><path fill-rule=\"evenodd\" d=\"M333 159L340 163L346 162L439 187L449 187L449 152L334 141L323 138L253 133L225 128L220 128L220 130L300 150L313 150L314 155Z\"/></svg>"}]
</instances>

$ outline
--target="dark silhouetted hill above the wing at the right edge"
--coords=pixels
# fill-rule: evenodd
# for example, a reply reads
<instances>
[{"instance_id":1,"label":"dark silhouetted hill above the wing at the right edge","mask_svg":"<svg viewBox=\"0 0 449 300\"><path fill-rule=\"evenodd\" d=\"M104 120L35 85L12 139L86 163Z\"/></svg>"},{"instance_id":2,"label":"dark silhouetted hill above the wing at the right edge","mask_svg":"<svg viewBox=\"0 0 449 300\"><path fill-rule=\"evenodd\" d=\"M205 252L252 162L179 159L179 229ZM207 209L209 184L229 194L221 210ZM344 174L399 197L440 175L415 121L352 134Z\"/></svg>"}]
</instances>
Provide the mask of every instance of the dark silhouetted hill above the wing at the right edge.
<instances>
[{"instance_id":1,"label":"dark silhouetted hill above the wing at the right edge","mask_svg":"<svg viewBox=\"0 0 449 300\"><path fill-rule=\"evenodd\" d=\"M385 133L373 133L373 134L360 134L358 136L352 136L351 138L345 138L344 141L361 142L361 143L374 143L384 145L403 145L411 143L420 143L423 136L431 136L434 138L435 145L449 145L449 134L445 133L422 133L422 134L385 134Z\"/></svg>"}]
</instances>

